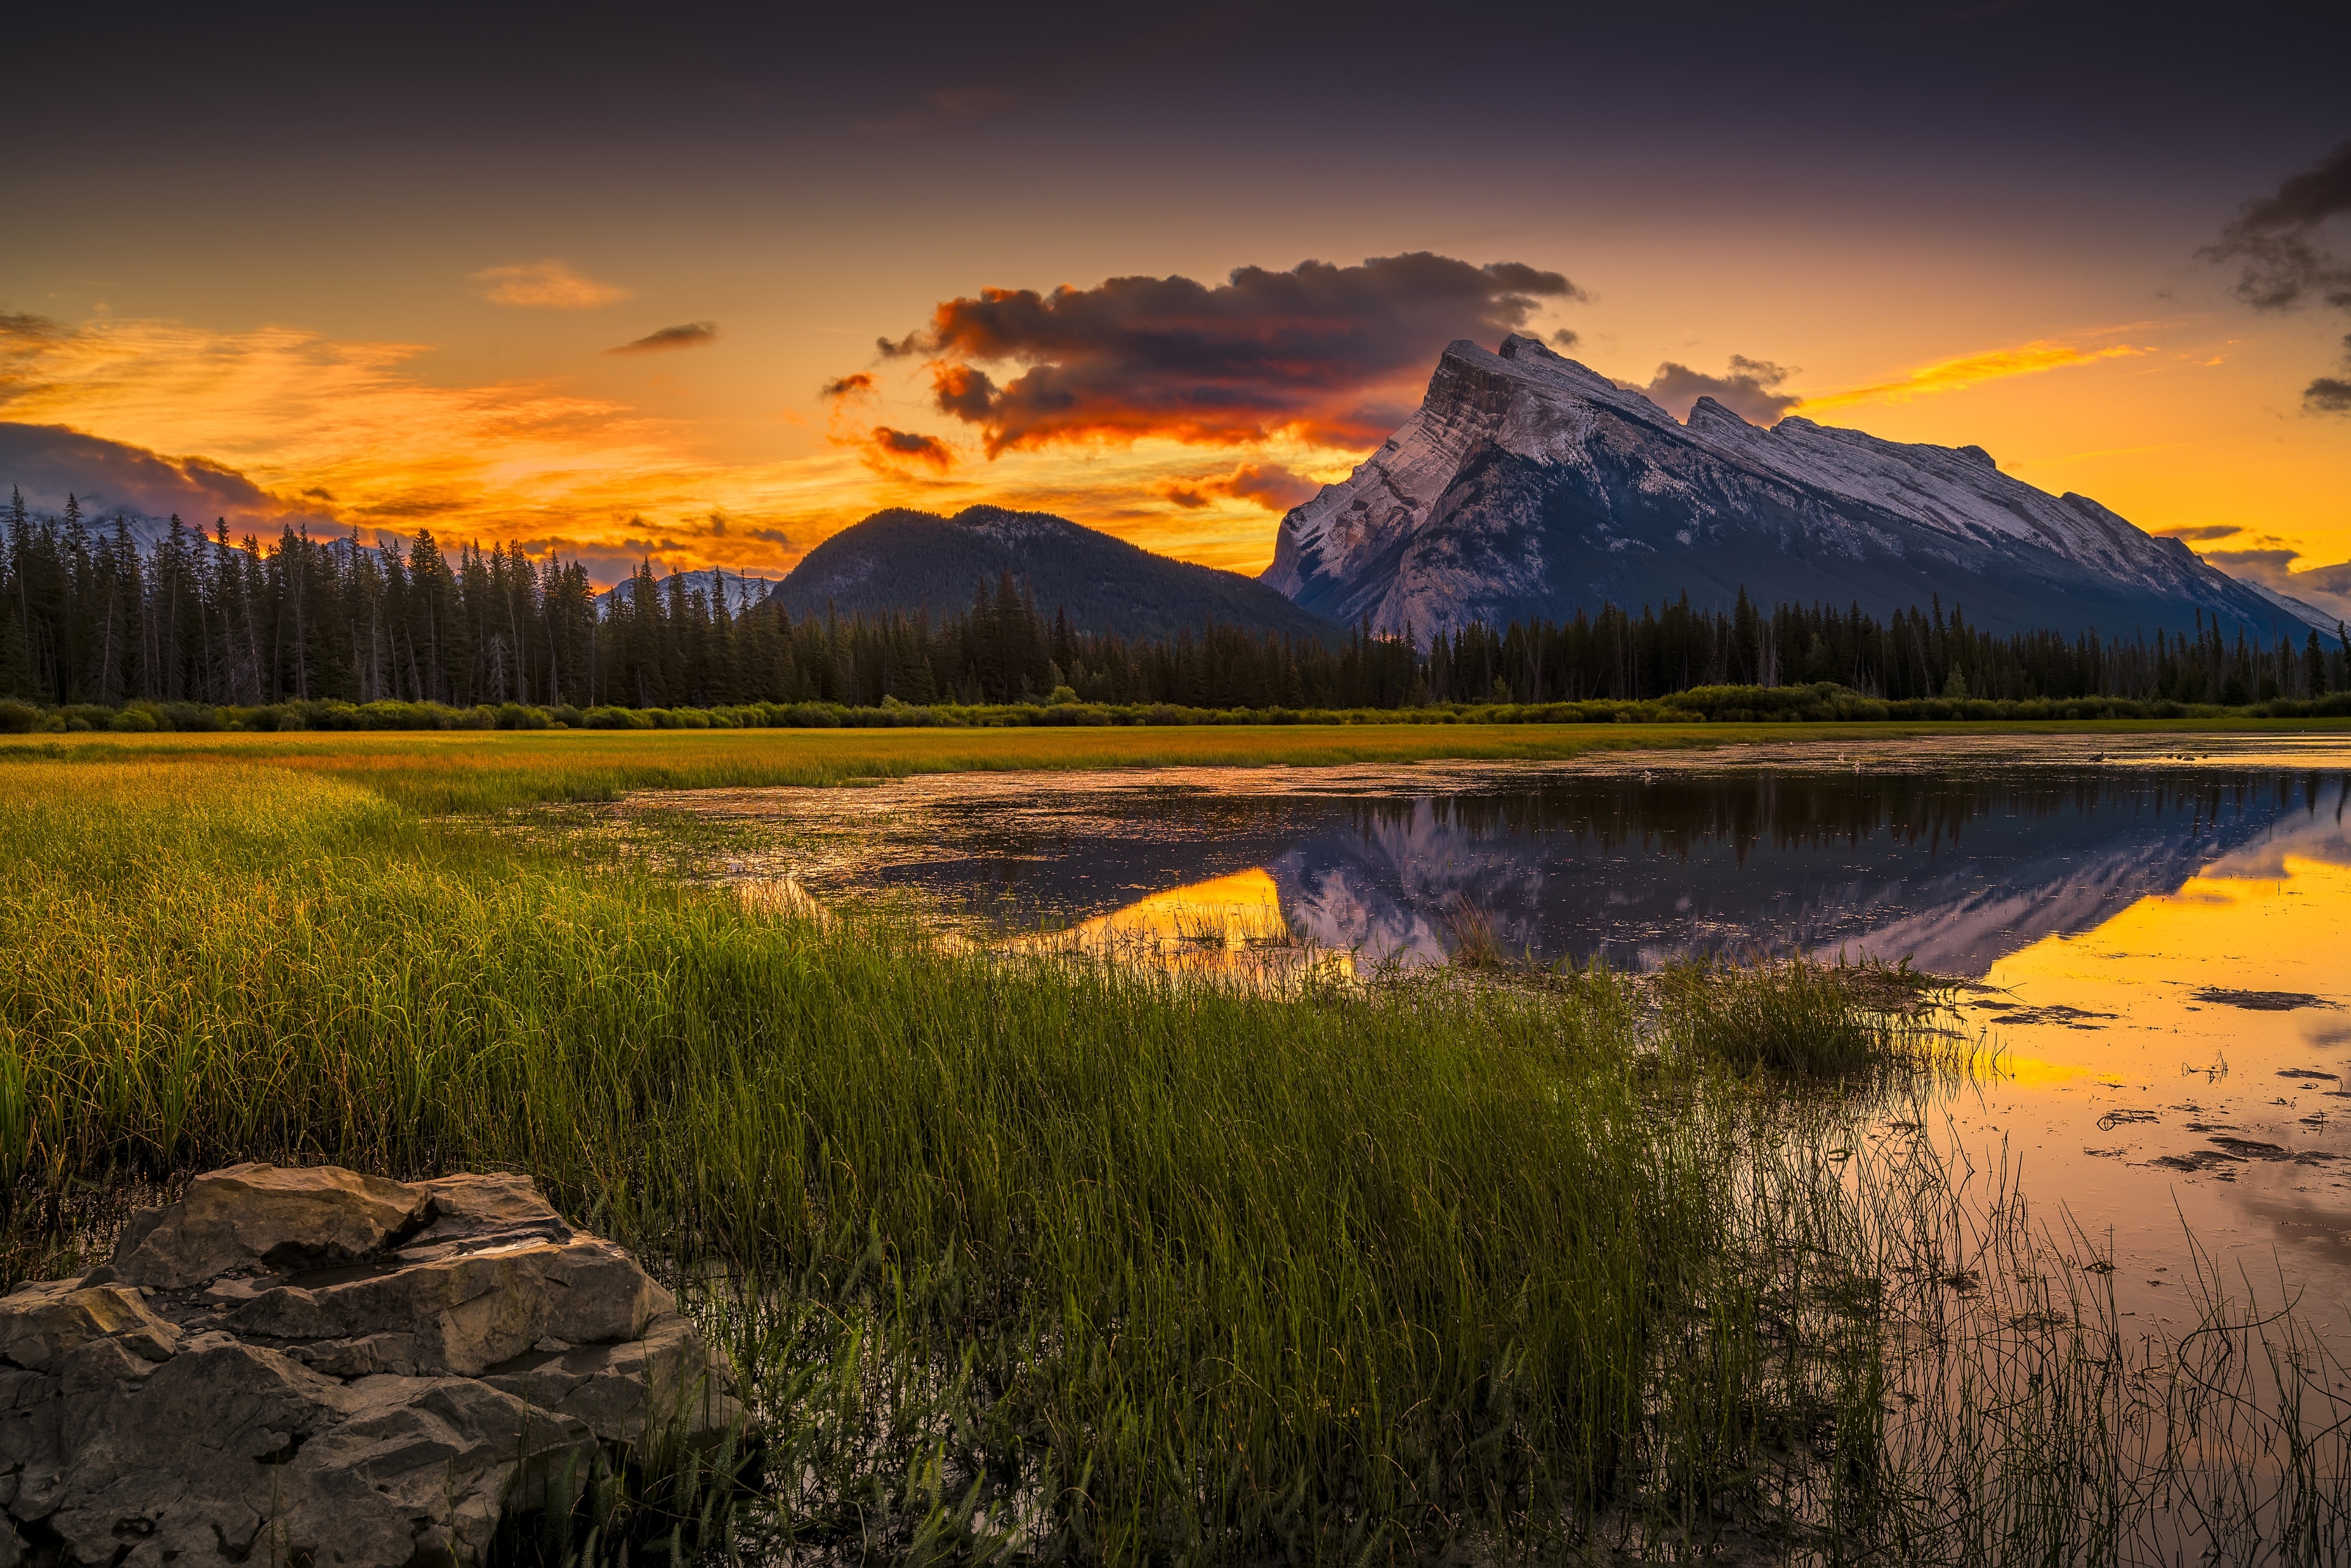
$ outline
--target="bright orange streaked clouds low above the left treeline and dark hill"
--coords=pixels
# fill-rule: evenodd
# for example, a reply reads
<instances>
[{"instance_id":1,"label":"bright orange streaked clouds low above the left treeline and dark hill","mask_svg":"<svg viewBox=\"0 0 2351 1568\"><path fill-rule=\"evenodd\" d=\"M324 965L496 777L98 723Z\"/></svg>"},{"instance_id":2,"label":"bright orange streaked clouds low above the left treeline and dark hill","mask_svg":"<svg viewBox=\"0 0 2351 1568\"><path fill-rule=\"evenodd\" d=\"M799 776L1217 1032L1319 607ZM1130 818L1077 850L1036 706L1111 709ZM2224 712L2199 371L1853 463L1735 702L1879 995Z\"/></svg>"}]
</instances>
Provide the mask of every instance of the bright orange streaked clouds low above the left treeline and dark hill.
<instances>
[{"instance_id":1,"label":"bright orange streaked clouds low above the left treeline and dark hill","mask_svg":"<svg viewBox=\"0 0 2351 1568\"><path fill-rule=\"evenodd\" d=\"M661 567L781 571L879 508L980 501L1060 512L1239 571L1272 552L1270 524L1157 494L1164 482L1197 480L1199 451L1166 440L1013 454L969 475L947 442L877 425L839 428L809 456L712 461L696 425L581 395L560 378L433 386L418 374L426 350L296 327L221 334L167 320L0 315L0 423L16 425L0 433L9 435L0 489L12 473L35 489L16 451L47 463L40 473L56 480L56 503L66 489L94 489L134 512L193 508L207 522L226 512L240 531L263 534L292 517L430 527L440 538L560 548L592 569L649 555ZM877 390L872 376L844 381L837 397ZM886 451L875 444L882 430ZM1246 501L1253 482L1354 456L1295 442L1260 454L1213 477ZM1152 501L1138 508L1138 496ZM712 512L729 517L724 534L708 527Z\"/></svg>"}]
</instances>

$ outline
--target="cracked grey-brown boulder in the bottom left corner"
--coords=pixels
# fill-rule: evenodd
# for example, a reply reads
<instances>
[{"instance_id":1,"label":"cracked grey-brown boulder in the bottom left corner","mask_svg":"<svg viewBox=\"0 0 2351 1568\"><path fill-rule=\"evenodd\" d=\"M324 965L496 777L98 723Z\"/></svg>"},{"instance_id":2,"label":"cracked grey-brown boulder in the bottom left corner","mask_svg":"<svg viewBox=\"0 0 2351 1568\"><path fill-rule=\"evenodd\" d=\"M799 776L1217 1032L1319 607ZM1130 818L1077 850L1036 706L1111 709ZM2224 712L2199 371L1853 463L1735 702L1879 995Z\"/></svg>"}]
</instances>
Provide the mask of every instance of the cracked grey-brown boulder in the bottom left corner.
<instances>
[{"instance_id":1,"label":"cracked grey-brown boulder in the bottom left corner","mask_svg":"<svg viewBox=\"0 0 2351 1568\"><path fill-rule=\"evenodd\" d=\"M465 1563L600 1446L738 1420L670 1293L527 1178L233 1166L0 1298L0 1568Z\"/></svg>"}]
</instances>

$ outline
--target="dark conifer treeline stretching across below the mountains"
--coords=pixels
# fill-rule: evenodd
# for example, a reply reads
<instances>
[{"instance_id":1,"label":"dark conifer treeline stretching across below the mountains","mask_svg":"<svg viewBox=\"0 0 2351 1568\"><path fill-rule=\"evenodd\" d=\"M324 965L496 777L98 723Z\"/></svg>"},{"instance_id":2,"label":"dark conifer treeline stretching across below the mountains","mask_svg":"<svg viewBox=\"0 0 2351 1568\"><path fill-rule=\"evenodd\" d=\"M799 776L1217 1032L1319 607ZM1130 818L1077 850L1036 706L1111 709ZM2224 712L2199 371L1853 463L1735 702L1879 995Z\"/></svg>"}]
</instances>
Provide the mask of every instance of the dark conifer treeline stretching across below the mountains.
<instances>
[{"instance_id":1,"label":"dark conifer treeline stretching across below the mountains","mask_svg":"<svg viewBox=\"0 0 2351 1568\"><path fill-rule=\"evenodd\" d=\"M96 710L734 710L1006 708L1418 710L1655 703L1707 689L1836 686L1874 703L2229 705L2351 691L2351 637L1991 635L1958 607L1886 621L1860 607L1728 614L1601 607L1573 621L1469 625L1429 646L1366 628L1335 639L1206 625L1168 639L1079 632L1009 574L931 616L731 614L724 595L639 567L602 607L578 562L461 545L230 541L172 520L141 548L94 527L7 512L0 696ZM306 719L296 719L306 722ZM567 719L569 722L569 719Z\"/></svg>"}]
</instances>

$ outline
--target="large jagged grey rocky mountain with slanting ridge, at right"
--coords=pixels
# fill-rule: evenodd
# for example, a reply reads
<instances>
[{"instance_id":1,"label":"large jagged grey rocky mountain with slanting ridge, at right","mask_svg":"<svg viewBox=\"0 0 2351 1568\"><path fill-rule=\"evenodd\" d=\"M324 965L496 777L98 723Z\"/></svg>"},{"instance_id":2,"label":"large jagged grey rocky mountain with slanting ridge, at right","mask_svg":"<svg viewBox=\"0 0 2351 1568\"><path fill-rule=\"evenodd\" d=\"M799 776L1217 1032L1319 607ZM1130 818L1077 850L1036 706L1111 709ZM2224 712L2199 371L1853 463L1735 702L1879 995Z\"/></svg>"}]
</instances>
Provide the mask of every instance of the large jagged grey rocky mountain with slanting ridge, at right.
<instances>
[{"instance_id":1,"label":"large jagged grey rocky mountain with slanting ridge, at right","mask_svg":"<svg viewBox=\"0 0 2351 1568\"><path fill-rule=\"evenodd\" d=\"M1420 411L1281 520L1262 581L1342 623L1453 632L1690 595L1726 609L1942 599L1984 630L2132 635L2219 616L2252 635L2335 618L2238 583L1982 447L1907 447L1810 418L1683 425L1535 339L1455 341Z\"/></svg>"}]
</instances>

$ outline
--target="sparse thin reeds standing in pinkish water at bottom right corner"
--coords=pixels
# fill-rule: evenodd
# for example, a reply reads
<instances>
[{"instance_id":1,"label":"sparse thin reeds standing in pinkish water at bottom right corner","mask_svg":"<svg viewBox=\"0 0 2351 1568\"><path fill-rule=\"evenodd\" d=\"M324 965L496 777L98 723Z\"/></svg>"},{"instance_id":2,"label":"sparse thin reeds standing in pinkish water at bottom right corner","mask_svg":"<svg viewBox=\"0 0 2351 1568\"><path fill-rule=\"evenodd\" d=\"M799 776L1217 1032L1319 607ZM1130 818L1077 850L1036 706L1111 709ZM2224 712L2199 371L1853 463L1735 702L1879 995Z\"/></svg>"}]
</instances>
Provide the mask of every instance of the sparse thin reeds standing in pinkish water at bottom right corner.
<instances>
[{"instance_id":1,"label":"sparse thin reeds standing in pinkish water at bottom right corner","mask_svg":"<svg viewBox=\"0 0 2351 1568\"><path fill-rule=\"evenodd\" d=\"M2092 1237L2034 1215L2012 1164L1940 1147L1853 1140L1841 1182L1789 1168L1817 1143L1763 1166L1754 1239L1843 1281L1806 1312L1799 1267L1763 1272L1784 1331L1836 1345L1810 1361L1836 1436L1777 1472L1782 1540L1824 1563L2344 1561L2351 1373L2283 1284L2186 1237L2189 1326L2130 1326Z\"/></svg>"}]
</instances>

